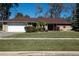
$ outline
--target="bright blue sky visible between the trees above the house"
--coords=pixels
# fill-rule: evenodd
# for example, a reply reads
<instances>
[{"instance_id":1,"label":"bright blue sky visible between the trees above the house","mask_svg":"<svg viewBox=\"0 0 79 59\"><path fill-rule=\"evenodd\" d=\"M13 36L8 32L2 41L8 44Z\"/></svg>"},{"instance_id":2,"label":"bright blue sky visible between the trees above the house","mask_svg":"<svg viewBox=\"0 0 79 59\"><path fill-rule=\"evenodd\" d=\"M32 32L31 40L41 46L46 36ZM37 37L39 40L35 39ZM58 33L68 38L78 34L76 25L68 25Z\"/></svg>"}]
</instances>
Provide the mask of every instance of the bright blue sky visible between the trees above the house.
<instances>
[{"instance_id":1,"label":"bright blue sky visible between the trees above the house","mask_svg":"<svg viewBox=\"0 0 79 59\"><path fill-rule=\"evenodd\" d=\"M16 13L22 13L23 15L29 15L31 18L36 18L36 6L38 3L19 3L18 7L14 7L11 9L11 16L10 18L14 18ZM44 15L45 12L49 9L48 3L40 3L40 5L44 8L43 13L41 15ZM66 6L70 7L70 4L66 4ZM71 8L68 12L61 13L61 17L68 17L71 15Z\"/></svg>"}]
</instances>

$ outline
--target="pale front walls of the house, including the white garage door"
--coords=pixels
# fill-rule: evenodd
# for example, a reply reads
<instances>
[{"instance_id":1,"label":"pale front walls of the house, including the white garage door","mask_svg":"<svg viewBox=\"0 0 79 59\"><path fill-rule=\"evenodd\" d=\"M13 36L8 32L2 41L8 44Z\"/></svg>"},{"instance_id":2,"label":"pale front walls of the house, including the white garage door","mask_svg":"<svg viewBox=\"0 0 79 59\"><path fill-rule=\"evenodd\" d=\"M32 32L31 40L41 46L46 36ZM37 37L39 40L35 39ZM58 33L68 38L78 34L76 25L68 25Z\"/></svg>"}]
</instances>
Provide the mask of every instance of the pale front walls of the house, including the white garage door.
<instances>
[{"instance_id":1,"label":"pale front walls of the house, including the white garage door","mask_svg":"<svg viewBox=\"0 0 79 59\"><path fill-rule=\"evenodd\" d=\"M17 25L17 24L6 24L3 25L3 31L5 32L25 32L26 25ZM27 25L28 26L28 25ZM59 31L71 31L72 27L70 25L57 25ZM45 26L45 29L48 30L48 26Z\"/></svg>"}]
</instances>

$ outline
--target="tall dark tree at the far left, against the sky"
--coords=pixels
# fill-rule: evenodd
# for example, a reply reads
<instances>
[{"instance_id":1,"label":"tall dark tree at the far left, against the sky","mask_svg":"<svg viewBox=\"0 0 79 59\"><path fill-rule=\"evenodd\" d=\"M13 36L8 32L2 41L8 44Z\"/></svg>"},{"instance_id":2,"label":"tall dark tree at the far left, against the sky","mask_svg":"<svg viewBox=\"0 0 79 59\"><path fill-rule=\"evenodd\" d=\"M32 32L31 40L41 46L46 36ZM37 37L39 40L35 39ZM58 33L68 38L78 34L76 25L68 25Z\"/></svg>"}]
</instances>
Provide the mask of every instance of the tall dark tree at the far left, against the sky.
<instances>
[{"instance_id":1,"label":"tall dark tree at the far left, against the sky","mask_svg":"<svg viewBox=\"0 0 79 59\"><path fill-rule=\"evenodd\" d=\"M7 20L11 15L10 9L18 6L19 4L17 3L0 3L1 20Z\"/></svg>"}]
</instances>

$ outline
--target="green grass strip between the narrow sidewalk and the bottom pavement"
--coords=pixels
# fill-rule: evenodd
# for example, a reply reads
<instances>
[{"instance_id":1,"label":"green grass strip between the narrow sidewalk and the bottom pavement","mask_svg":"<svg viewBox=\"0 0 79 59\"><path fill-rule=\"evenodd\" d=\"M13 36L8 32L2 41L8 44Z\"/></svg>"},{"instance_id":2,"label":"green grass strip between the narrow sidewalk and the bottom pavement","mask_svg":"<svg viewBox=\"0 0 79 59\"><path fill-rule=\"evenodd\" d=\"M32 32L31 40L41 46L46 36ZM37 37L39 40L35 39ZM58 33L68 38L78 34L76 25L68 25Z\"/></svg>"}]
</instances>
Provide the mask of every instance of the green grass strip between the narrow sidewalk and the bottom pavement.
<instances>
[{"instance_id":1,"label":"green grass strip between the narrow sidewalk and the bottom pavement","mask_svg":"<svg viewBox=\"0 0 79 59\"><path fill-rule=\"evenodd\" d=\"M79 51L79 40L0 40L0 51Z\"/></svg>"}]
</instances>

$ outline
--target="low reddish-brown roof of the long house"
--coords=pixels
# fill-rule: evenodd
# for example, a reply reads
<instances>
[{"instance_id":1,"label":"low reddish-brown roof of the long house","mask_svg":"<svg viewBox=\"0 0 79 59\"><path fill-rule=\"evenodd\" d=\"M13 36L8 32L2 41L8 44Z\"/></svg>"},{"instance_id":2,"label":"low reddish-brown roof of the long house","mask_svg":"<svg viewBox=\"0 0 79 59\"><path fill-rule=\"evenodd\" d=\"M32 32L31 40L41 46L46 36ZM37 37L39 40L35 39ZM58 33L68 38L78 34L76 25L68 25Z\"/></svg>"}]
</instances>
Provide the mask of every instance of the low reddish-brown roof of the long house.
<instances>
[{"instance_id":1,"label":"low reddish-brown roof of the long house","mask_svg":"<svg viewBox=\"0 0 79 59\"><path fill-rule=\"evenodd\" d=\"M4 22L37 22L37 21L44 21L47 23L55 23L55 24L71 24L67 20L64 19L53 19L53 18L16 18L16 19L10 19L8 21Z\"/></svg>"}]
</instances>

